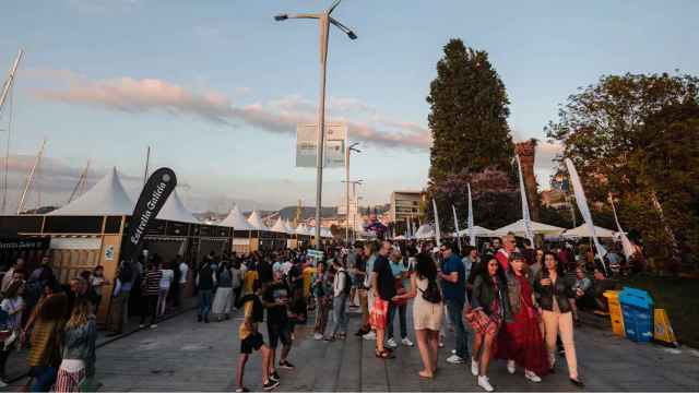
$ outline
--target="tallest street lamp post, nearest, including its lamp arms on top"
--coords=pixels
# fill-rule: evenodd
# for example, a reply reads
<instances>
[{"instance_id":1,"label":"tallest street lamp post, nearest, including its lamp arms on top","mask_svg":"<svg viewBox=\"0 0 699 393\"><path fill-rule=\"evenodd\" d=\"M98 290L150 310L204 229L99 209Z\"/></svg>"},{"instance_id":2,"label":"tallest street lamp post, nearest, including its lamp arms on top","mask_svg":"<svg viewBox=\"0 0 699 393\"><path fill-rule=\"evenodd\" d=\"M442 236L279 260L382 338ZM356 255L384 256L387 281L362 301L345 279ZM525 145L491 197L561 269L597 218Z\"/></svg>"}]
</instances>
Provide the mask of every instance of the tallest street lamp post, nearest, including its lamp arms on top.
<instances>
[{"instance_id":1,"label":"tallest street lamp post, nearest, including its lamp arms on top","mask_svg":"<svg viewBox=\"0 0 699 393\"><path fill-rule=\"evenodd\" d=\"M328 34L332 23L351 39L356 39L348 27L337 22L330 14L335 10L342 0L335 0L333 4L322 13L315 14L280 14L274 16L275 21L286 21L288 19L317 19L320 27L320 99L318 103L318 130L316 131L316 247L320 249L320 209L323 186L323 147L325 142L325 71L328 68Z\"/></svg>"}]
</instances>

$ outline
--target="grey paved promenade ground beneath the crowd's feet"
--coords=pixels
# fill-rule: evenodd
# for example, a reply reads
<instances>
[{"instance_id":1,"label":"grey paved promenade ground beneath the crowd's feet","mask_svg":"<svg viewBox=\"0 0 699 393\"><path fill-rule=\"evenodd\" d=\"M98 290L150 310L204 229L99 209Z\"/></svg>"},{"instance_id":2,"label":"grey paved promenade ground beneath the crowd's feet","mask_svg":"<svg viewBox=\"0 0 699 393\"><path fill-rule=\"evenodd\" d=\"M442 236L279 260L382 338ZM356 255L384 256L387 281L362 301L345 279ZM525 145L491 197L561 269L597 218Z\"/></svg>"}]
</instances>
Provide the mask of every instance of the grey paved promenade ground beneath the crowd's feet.
<instances>
[{"instance_id":1,"label":"grey paved promenade ground beneath the crowd's feet","mask_svg":"<svg viewBox=\"0 0 699 393\"><path fill-rule=\"evenodd\" d=\"M156 329L110 342L97 352L102 391L234 391L240 322L239 314L234 314L223 322L199 323L196 312L187 311ZM359 315L351 313L350 332L358 326ZM414 341L411 326L408 320L408 336ZM699 391L699 352L637 344L584 325L574 334L585 391ZM289 355L296 369L280 370L276 391L481 391L469 365L445 361L450 355L449 335L435 379L425 381L417 376L422 362L416 347L400 346L395 359L380 360L374 355L374 342L353 335L332 343L312 340L309 321L296 327ZM247 366L245 381L251 391L261 390L260 364L256 353ZM524 379L522 369L510 376L505 361L496 360L489 377L498 391L578 390L568 381L562 357L556 369L535 384Z\"/></svg>"}]
</instances>

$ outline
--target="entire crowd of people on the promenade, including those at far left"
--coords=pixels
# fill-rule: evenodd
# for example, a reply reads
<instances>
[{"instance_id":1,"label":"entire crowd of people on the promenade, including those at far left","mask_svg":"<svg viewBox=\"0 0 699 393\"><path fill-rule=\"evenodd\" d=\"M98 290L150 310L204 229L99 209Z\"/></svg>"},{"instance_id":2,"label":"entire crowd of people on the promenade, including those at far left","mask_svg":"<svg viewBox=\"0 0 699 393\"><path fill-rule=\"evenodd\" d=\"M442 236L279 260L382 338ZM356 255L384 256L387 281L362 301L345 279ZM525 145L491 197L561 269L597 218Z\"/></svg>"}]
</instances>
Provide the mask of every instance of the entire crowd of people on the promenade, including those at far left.
<instances>
[{"instance_id":1,"label":"entire crowd of people on the promenade, including those at far left","mask_svg":"<svg viewBox=\"0 0 699 393\"><path fill-rule=\"evenodd\" d=\"M446 361L470 364L485 391L494 390L488 379L493 359L502 359L510 373L521 368L526 380L538 383L554 372L557 353L566 357L570 381L582 386L573 340L578 311L604 309L602 294L615 285L583 250L577 257L566 246L535 249L526 240L518 245L513 235L463 250L450 242L386 240L329 247L321 259L305 251L211 252L196 266L179 257L166 262L144 252L137 261L122 261L114 283L96 266L67 286L58 284L48 258L28 274L17 260L2 279L0 378L10 354L25 345L31 346L33 390L96 385L95 313L103 297L111 296L109 335L126 331L133 306L140 327L155 329L168 310L181 307L191 279L199 322L241 312L238 391L247 391L244 373L253 352L262 355L263 389L273 390L281 381L279 370L295 368L289 361L295 326L315 313L315 340L346 340L353 310L362 317L354 335L375 341L378 359L393 359L399 345L417 344L424 366L419 378L438 374L439 348L449 346ZM259 329L262 322L266 337ZM453 331L451 343L446 343L448 331Z\"/></svg>"}]
</instances>

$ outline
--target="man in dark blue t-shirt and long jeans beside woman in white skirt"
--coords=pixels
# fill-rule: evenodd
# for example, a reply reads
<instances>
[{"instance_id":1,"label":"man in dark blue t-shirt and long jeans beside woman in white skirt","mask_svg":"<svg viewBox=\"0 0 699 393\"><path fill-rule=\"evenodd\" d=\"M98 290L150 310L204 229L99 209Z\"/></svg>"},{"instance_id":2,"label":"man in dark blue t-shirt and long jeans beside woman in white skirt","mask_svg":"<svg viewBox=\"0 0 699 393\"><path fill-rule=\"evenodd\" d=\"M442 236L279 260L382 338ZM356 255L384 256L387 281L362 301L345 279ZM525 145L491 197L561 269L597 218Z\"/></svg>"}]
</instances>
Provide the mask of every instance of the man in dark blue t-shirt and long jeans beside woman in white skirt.
<instances>
[{"instance_id":1,"label":"man in dark blue t-shirt and long jeans beside woman in white skirt","mask_svg":"<svg viewBox=\"0 0 699 393\"><path fill-rule=\"evenodd\" d=\"M445 295L445 303L449 319L454 324L454 334L457 338L457 353L447 358L447 361L460 365L465 361L469 356L469 336L463 325L463 307L466 301L466 271L461 258L452 251L450 243L440 247L442 257L441 270L439 278L441 278L441 288Z\"/></svg>"}]
</instances>

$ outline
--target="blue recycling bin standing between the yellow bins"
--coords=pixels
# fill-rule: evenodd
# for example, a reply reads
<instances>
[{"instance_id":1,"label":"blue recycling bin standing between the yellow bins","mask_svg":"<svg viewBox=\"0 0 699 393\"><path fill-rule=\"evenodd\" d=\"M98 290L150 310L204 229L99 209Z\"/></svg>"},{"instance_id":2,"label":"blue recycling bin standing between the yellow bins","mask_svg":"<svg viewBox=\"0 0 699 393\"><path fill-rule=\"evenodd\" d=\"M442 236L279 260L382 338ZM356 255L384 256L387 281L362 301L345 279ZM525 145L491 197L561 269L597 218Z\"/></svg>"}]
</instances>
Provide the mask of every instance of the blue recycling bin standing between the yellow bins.
<instances>
[{"instance_id":1,"label":"blue recycling bin standing between the yellow bins","mask_svg":"<svg viewBox=\"0 0 699 393\"><path fill-rule=\"evenodd\" d=\"M653 298L637 288L624 287L619 293L624 313L626 336L635 342L647 343L653 338Z\"/></svg>"}]
</instances>

